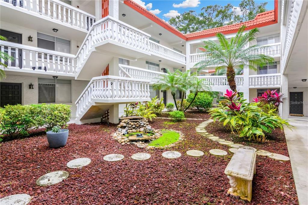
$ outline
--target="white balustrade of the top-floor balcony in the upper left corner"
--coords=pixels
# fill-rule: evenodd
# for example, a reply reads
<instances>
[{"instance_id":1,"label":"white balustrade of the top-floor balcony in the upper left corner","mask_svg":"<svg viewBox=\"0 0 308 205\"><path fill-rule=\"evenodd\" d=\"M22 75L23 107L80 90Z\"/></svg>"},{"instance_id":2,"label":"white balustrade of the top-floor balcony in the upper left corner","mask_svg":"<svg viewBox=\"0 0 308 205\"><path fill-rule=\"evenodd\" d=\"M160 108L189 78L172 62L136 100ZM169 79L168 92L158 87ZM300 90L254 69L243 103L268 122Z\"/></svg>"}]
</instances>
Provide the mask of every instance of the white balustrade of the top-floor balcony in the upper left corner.
<instances>
[{"instance_id":1,"label":"white balustrade of the top-floor balcony in the upper left corner","mask_svg":"<svg viewBox=\"0 0 308 205\"><path fill-rule=\"evenodd\" d=\"M32 11L49 18L68 23L80 29L89 30L95 22L95 15L58 0L0 0L13 6Z\"/></svg>"}]
</instances>

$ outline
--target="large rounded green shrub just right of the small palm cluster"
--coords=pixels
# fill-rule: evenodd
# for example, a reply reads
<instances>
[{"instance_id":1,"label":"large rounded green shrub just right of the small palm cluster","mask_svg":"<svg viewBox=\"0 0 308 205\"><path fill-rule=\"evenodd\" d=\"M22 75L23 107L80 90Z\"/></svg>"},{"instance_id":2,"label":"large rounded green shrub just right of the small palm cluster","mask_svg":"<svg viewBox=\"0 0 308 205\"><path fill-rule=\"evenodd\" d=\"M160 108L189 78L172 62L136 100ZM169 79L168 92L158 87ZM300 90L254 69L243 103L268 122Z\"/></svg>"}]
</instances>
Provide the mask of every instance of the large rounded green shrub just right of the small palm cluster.
<instances>
[{"instance_id":1,"label":"large rounded green shrub just right of the small palm cluster","mask_svg":"<svg viewBox=\"0 0 308 205\"><path fill-rule=\"evenodd\" d=\"M194 98L195 94L190 93L187 96L187 102L192 102L193 98ZM213 97L205 92L199 92L195 98L195 100L193 101L191 108L195 108L199 111L204 111L204 110L208 110L211 107L213 107Z\"/></svg>"}]
</instances>

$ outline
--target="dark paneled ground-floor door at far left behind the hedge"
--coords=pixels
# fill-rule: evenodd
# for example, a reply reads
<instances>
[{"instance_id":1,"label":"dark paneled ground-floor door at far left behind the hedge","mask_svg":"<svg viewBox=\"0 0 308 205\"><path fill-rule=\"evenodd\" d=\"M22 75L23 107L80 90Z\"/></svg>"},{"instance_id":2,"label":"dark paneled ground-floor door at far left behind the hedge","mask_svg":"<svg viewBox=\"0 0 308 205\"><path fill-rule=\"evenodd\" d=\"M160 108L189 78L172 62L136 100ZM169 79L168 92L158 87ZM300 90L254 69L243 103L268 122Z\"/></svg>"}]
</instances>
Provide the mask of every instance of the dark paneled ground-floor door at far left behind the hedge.
<instances>
[{"instance_id":1,"label":"dark paneled ground-floor door at far left behind the hedge","mask_svg":"<svg viewBox=\"0 0 308 205\"><path fill-rule=\"evenodd\" d=\"M1 107L21 104L21 83L1 82L0 88Z\"/></svg>"}]
</instances>

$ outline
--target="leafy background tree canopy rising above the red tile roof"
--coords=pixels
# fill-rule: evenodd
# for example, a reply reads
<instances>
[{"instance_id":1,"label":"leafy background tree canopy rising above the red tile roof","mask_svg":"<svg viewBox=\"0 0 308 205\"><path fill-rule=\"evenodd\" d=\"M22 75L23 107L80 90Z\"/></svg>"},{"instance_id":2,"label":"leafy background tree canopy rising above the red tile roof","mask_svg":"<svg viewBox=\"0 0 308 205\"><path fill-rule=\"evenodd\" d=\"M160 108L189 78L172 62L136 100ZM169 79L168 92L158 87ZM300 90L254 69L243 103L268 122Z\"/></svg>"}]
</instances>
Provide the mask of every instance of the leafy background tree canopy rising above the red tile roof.
<instances>
[{"instance_id":1,"label":"leafy background tree canopy rising above the red tile roof","mask_svg":"<svg viewBox=\"0 0 308 205\"><path fill-rule=\"evenodd\" d=\"M242 0L238 7L228 3L202 7L200 12L185 11L172 17L169 24L180 32L187 34L205 29L216 28L243 21L252 20L257 14L266 11L267 2L257 4L254 0ZM240 15L238 13L241 13Z\"/></svg>"}]
</instances>

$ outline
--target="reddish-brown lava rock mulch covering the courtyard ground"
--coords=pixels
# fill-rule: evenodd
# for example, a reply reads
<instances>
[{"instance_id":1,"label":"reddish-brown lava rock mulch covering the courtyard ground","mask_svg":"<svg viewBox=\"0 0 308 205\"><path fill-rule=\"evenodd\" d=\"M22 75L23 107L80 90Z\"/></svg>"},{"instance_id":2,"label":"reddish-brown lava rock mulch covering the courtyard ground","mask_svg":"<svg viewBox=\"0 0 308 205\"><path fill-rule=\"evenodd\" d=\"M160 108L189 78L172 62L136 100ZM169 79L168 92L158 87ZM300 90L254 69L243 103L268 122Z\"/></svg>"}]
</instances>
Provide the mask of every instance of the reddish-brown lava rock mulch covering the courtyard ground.
<instances>
[{"instance_id":1,"label":"reddish-brown lava rock mulch covering the courtyard ground","mask_svg":"<svg viewBox=\"0 0 308 205\"><path fill-rule=\"evenodd\" d=\"M45 134L2 143L1 197L26 193L33 197L30 204L247 203L227 195L230 186L224 170L232 154L221 157L209 154L210 149L227 151L228 147L195 132L194 127L204 120L175 124L165 121L154 119L150 125L184 133L186 140L172 149L182 153L178 159L165 159L161 156L164 150L153 150L147 151L152 155L150 159L134 161L130 156L145 150L115 142L111 134L116 126L100 123L71 124L67 145L58 149L48 147ZM282 139L258 146L288 156ZM201 150L205 155L188 156L185 153L189 149ZM118 162L104 161L103 156L111 153L125 157ZM92 162L80 169L66 167L67 162L79 157L88 157ZM57 170L68 171L70 176L48 187L35 184L40 176ZM257 156L251 204L298 204L290 161L282 163Z\"/></svg>"}]
</instances>

